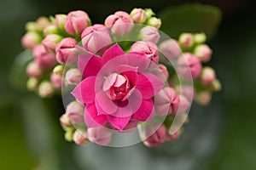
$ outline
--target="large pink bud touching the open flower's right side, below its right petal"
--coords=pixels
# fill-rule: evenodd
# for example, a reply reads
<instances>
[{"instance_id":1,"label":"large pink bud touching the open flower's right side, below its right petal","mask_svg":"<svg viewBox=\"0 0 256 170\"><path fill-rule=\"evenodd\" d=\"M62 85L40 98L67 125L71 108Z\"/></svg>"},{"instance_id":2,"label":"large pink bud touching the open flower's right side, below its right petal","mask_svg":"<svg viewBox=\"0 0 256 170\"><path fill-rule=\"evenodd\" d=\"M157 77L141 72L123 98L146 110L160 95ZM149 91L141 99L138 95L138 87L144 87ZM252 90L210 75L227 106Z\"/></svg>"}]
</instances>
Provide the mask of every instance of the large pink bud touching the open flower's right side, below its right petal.
<instances>
[{"instance_id":1,"label":"large pink bud touching the open flower's right side, below its right petal","mask_svg":"<svg viewBox=\"0 0 256 170\"><path fill-rule=\"evenodd\" d=\"M173 88L166 87L160 90L154 97L155 112L158 116L166 116L177 113L180 99Z\"/></svg>"}]
</instances>

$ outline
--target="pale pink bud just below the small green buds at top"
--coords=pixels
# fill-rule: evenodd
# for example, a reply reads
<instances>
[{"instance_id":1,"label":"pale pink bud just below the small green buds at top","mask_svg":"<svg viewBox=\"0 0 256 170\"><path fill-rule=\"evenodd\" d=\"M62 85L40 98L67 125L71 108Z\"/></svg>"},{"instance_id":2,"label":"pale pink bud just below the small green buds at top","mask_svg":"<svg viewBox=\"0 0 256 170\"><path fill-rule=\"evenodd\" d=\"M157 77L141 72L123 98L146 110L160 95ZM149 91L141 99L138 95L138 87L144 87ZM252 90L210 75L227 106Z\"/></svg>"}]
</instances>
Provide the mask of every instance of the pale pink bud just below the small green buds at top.
<instances>
[{"instance_id":1,"label":"pale pink bud just below the small green buds at top","mask_svg":"<svg viewBox=\"0 0 256 170\"><path fill-rule=\"evenodd\" d=\"M140 31L140 34L144 42L156 43L160 39L158 30L152 26L143 27L143 29Z\"/></svg>"}]
</instances>

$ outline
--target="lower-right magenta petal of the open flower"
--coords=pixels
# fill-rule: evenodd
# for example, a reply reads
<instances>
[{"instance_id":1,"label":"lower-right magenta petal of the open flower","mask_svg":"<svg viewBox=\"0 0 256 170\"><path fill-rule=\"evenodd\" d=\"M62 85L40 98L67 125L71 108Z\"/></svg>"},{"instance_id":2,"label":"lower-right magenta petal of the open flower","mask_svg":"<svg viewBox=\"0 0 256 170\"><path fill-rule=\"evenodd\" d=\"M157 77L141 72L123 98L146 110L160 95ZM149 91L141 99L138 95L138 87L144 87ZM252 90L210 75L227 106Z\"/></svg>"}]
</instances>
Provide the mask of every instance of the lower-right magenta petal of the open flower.
<instances>
[{"instance_id":1,"label":"lower-right magenta petal of the open flower","mask_svg":"<svg viewBox=\"0 0 256 170\"><path fill-rule=\"evenodd\" d=\"M152 99L144 99L140 108L132 115L137 121L150 121L154 114L154 105Z\"/></svg>"}]
</instances>

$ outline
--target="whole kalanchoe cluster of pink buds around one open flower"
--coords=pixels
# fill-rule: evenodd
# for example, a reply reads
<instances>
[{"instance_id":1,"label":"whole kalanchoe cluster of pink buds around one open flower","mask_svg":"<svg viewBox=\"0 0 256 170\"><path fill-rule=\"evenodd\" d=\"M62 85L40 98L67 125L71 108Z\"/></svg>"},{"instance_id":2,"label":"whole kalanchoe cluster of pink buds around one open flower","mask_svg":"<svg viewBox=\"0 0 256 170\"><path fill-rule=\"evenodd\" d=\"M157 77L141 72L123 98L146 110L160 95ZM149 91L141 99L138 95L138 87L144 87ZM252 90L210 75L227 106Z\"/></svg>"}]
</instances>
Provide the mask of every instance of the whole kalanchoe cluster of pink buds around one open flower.
<instances>
[{"instance_id":1,"label":"whole kalanchoe cluster of pink buds around one open flower","mask_svg":"<svg viewBox=\"0 0 256 170\"><path fill-rule=\"evenodd\" d=\"M175 40L160 25L148 8L118 11L104 25L91 26L81 10L26 25L21 42L33 55L27 89L49 98L62 88L67 141L108 145L138 128L143 144L157 146L178 139L194 100L207 105L220 90L205 66L212 57L206 35L184 32Z\"/></svg>"}]
</instances>

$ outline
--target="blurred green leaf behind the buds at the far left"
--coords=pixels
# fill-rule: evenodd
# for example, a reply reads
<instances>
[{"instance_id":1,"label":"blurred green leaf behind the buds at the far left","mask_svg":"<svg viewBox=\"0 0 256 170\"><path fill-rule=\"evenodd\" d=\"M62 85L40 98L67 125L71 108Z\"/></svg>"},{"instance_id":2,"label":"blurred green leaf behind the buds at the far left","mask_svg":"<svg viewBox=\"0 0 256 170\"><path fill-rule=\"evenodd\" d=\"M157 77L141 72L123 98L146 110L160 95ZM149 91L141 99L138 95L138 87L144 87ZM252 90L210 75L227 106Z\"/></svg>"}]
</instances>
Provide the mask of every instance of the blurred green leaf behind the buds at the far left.
<instances>
[{"instance_id":1,"label":"blurred green leaf behind the buds at the far left","mask_svg":"<svg viewBox=\"0 0 256 170\"><path fill-rule=\"evenodd\" d=\"M16 56L9 75L10 84L19 90L26 90L26 65L32 60L32 51L25 50Z\"/></svg>"}]
</instances>

